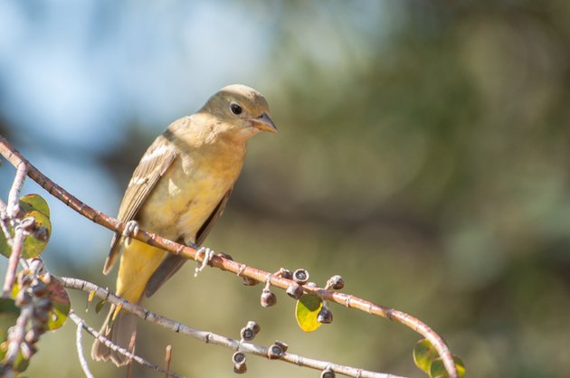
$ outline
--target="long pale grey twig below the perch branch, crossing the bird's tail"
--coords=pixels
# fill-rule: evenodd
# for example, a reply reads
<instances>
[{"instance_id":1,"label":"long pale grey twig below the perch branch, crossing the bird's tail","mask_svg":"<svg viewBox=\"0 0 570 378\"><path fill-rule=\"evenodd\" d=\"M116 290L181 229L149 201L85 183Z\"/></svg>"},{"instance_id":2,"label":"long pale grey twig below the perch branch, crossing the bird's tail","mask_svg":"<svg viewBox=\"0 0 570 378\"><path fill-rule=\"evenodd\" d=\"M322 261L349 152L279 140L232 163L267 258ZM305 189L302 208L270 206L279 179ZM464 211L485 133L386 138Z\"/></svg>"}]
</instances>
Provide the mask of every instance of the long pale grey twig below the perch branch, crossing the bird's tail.
<instances>
[{"instance_id":1,"label":"long pale grey twig below the perch branch, crossing the bird's tail","mask_svg":"<svg viewBox=\"0 0 570 378\"><path fill-rule=\"evenodd\" d=\"M145 307L134 305L127 300L118 297L106 288L101 288L91 282L83 279L73 279L68 277L61 277L62 284L65 288L75 288L80 289L85 292L94 292L95 295L103 300L113 304L121 305L123 311L128 311L144 320L151 323L155 323L159 326L164 326L176 333L182 335L189 335L197 340L203 341L207 344L221 345L232 350L239 350L244 353L254 354L261 357L268 358L269 348L254 345L251 343L244 343L241 340L233 339L223 335L217 335L213 332L203 331L199 329L192 328L190 326L185 326L182 323L176 322L167 317L158 315L155 312L149 311ZM341 373L351 377L362 377L362 378L403 378L390 373L376 373L366 370L357 369L356 367L341 365L341 364L331 364L327 361L316 360L309 357L304 357L299 354L285 353L280 357L280 360L286 361L290 364L297 364L299 366L305 366L316 370L325 370L330 367L336 373Z\"/></svg>"}]
</instances>

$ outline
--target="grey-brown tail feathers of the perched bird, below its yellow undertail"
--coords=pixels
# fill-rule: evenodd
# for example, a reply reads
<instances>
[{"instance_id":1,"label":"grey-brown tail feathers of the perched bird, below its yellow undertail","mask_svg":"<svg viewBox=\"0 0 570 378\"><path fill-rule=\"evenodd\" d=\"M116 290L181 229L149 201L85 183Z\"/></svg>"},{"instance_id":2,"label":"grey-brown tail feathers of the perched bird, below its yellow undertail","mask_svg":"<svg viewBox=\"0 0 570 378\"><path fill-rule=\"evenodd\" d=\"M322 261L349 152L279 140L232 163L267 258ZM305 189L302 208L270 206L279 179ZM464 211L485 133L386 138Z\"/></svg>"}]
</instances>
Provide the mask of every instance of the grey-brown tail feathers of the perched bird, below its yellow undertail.
<instances>
[{"instance_id":1,"label":"grey-brown tail feathers of the perched bird, below its yellow undertail","mask_svg":"<svg viewBox=\"0 0 570 378\"><path fill-rule=\"evenodd\" d=\"M115 320L111 321L114 312L115 306L111 306L109 315L101 327L100 334L107 337L113 344L128 350L131 337L137 332L137 317L128 312L120 311ZM95 343L93 343L91 358L95 361L109 361L110 359L117 366L128 364L130 361L126 355L111 350L109 346L104 345L99 340L95 340Z\"/></svg>"}]
</instances>

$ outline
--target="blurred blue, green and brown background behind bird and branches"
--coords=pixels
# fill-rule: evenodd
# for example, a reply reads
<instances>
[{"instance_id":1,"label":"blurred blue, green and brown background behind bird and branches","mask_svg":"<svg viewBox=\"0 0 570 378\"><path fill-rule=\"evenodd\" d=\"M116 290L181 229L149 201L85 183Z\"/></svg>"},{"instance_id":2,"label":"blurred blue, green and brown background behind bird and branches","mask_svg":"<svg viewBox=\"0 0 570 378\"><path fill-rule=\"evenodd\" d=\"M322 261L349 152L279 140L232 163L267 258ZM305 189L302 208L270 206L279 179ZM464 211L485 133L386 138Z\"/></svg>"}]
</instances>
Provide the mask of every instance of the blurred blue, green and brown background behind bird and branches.
<instances>
[{"instance_id":1,"label":"blurred blue, green and brown background behind bird and branches","mask_svg":"<svg viewBox=\"0 0 570 378\"><path fill-rule=\"evenodd\" d=\"M250 141L209 247L321 285L341 274L345 291L432 326L471 377L567 376L569 2L4 1L0 25L0 133L82 201L115 215L171 121L250 85L280 134ZM4 199L13 177L3 164ZM111 232L36 184L25 193L52 207L49 269L113 288L116 270L100 272ZM233 337L254 319L258 344L423 376L404 326L333 306L332 325L304 334L282 291L261 308L261 286L194 267L147 307ZM43 336L27 375L82 376L74 332ZM138 354L161 364L167 344L177 373L233 376L231 351L139 325ZM254 357L248 374L318 376Z\"/></svg>"}]
</instances>

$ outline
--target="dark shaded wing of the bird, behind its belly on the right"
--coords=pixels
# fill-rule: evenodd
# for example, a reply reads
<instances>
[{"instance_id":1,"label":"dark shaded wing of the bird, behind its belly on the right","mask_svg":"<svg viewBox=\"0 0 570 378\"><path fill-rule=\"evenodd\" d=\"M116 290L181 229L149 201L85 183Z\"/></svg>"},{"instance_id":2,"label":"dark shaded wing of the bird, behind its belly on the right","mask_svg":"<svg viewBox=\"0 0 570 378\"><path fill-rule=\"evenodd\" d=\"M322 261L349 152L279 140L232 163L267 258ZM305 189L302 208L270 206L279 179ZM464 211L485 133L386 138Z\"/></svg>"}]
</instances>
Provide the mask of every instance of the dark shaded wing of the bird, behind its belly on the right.
<instances>
[{"instance_id":1,"label":"dark shaded wing of the bird, behind its belly on the right","mask_svg":"<svg viewBox=\"0 0 570 378\"><path fill-rule=\"evenodd\" d=\"M210 214L202 227L200 227L200 230L196 233L195 244L201 245L208 232L212 230L214 223L223 213L223 209L225 208L225 204L228 202L228 198L230 198L232 189L233 188L230 188L230 190L228 190L226 194L223 195L220 203L218 203L214 208L214 212ZM174 276L178 269L182 268L182 265L184 265L187 260L188 259L180 256L168 254L165 260L162 260L157 270L155 270L155 272L148 280L147 288L145 288L145 295L147 297L150 297L155 294L157 292L157 289L160 288L168 279Z\"/></svg>"}]
</instances>

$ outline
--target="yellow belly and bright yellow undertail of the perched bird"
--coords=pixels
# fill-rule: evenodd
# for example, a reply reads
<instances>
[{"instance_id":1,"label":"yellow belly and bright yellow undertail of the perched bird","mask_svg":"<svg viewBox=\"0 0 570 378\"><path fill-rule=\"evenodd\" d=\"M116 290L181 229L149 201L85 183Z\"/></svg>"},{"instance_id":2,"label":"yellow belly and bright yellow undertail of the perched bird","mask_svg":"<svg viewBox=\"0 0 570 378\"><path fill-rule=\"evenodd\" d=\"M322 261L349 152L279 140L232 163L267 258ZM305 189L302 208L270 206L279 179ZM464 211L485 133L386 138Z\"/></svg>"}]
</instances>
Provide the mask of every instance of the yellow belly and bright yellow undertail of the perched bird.
<instances>
[{"instance_id":1,"label":"yellow belly and bright yellow undertail of the perched bird","mask_svg":"<svg viewBox=\"0 0 570 378\"><path fill-rule=\"evenodd\" d=\"M191 163L176 159L158 181L136 218L142 230L175 241L195 241L196 232L232 188L242 168L241 162L223 161L224 166ZM117 294L138 302L166 253L133 240L120 259Z\"/></svg>"}]
</instances>

